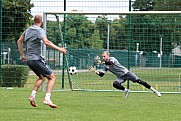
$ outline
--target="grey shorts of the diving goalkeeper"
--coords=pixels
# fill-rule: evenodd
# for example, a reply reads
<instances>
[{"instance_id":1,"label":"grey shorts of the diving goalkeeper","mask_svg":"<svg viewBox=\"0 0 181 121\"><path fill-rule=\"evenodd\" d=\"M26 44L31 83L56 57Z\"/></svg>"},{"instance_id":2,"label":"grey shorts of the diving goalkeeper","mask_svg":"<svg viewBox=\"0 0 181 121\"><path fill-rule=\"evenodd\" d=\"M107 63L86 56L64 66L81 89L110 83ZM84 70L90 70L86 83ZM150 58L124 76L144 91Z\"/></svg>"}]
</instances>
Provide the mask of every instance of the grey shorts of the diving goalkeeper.
<instances>
[{"instance_id":1,"label":"grey shorts of the diving goalkeeper","mask_svg":"<svg viewBox=\"0 0 181 121\"><path fill-rule=\"evenodd\" d=\"M138 80L139 78L132 72L128 72L127 74L125 74L122 77L117 77L115 81L119 82L119 83L124 83L126 80L130 80L132 82L136 82L136 80Z\"/></svg>"}]
</instances>

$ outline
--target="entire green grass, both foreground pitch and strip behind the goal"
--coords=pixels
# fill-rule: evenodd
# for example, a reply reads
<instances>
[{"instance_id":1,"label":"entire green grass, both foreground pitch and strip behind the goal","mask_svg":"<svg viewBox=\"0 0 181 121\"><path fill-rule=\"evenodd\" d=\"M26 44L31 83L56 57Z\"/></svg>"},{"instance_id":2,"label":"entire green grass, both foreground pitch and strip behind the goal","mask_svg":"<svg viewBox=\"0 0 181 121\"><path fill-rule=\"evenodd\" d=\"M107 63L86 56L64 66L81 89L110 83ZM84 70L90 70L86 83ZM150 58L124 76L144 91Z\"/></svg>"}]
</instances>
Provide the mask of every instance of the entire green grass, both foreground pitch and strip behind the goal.
<instances>
[{"instance_id":1,"label":"entire green grass, both foreground pitch and strip behind the goal","mask_svg":"<svg viewBox=\"0 0 181 121\"><path fill-rule=\"evenodd\" d=\"M180 92L180 68L174 69L134 69L141 79L159 91ZM181 121L181 95L154 93L130 93L125 98L123 92L65 91L70 90L67 75L65 89L61 89L62 75L56 73L56 91L52 101L59 107L51 109L43 105L45 92L37 93L38 107L31 107L28 97L35 79L30 75L24 88L0 88L0 121ZM108 73L100 78L92 72L78 73L72 81L83 89L114 89L115 76ZM124 85L126 86L127 83ZM147 90L142 85L130 83L130 89Z\"/></svg>"}]
</instances>

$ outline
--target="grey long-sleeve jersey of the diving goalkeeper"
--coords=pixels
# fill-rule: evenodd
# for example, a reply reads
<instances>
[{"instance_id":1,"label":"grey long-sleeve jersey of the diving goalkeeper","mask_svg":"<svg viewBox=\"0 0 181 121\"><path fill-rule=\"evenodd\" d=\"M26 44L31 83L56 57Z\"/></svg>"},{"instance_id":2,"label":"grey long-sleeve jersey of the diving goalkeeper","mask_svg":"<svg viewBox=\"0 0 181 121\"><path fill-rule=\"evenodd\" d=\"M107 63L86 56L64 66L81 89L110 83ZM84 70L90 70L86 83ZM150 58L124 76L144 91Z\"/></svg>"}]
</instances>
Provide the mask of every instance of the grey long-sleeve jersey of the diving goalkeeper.
<instances>
[{"instance_id":1,"label":"grey long-sleeve jersey of the diving goalkeeper","mask_svg":"<svg viewBox=\"0 0 181 121\"><path fill-rule=\"evenodd\" d=\"M111 64L104 65L103 70L101 71L102 73L106 73L108 70L115 74L117 77L122 77L124 76L129 70L121 65L118 60L114 57L110 57L109 61L111 61Z\"/></svg>"}]
</instances>

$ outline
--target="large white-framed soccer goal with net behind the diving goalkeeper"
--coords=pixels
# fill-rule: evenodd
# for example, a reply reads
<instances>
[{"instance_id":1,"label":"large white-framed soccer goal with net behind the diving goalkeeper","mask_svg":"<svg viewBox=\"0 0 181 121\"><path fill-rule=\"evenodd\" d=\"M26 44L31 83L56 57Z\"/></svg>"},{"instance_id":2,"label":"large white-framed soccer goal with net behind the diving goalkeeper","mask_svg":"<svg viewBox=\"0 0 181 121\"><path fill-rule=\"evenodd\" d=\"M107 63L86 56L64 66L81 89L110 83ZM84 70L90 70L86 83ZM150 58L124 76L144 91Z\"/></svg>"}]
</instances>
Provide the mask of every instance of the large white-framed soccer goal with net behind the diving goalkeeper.
<instances>
[{"instance_id":1,"label":"large white-framed soccer goal with net behind the diving goalkeeper","mask_svg":"<svg viewBox=\"0 0 181 121\"><path fill-rule=\"evenodd\" d=\"M51 41L67 47L68 54L45 49L46 60L54 58L61 88L87 91L118 91L116 77L108 72L99 77L101 53L111 56L162 93L181 92L181 11L131 12L44 12L43 26ZM72 73L70 67L76 67ZM94 67L94 68L90 68ZM71 71L71 73L69 73ZM143 86L123 84L135 92Z\"/></svg>"}]
</instances>

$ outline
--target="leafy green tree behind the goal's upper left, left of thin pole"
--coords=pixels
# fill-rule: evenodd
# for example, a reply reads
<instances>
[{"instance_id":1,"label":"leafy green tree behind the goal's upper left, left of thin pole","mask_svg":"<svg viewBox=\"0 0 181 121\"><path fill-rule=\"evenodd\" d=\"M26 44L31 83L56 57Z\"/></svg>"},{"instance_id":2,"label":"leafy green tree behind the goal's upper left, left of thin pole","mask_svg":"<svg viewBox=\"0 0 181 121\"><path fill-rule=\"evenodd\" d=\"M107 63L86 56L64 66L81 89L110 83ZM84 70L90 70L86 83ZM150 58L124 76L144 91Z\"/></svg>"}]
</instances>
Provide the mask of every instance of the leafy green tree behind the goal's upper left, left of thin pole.
<instances>
[{"instance_id":1,"label":"leafy green tree behind the goal's upper left, left of thin pole","mask_svg":"<svg viewBox=\"0 0 181 121\"><path fill-rule=\"evenodd\" d=\"M64 28L64 26L63 26ZM102 49L102 39L96 25L84 15L66 17L66 43L69 47Z\"/></svg>"}]
</instances>

